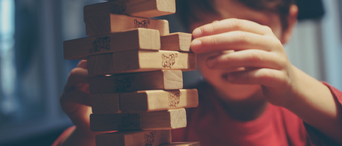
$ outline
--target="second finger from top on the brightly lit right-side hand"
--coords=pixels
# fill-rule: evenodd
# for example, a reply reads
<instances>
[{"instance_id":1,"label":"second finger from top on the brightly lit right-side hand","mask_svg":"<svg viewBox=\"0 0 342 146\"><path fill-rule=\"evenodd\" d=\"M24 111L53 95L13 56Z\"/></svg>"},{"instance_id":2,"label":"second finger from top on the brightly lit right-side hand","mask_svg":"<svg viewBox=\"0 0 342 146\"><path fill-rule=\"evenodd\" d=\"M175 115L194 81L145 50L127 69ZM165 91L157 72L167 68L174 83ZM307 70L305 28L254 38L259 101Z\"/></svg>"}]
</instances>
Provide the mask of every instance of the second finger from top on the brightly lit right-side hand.
<instances>
[{"instance_id":1,"label":"second finger from top on the brightly lit right-side hand","mask_svg":"<svg viewBox=\"0 0 342 146\"><path fill-rule=\"evenodd\" d=\"M275 48L279 48L280 45L281 43L279 43L279 40L270 36L263 36L245 31L231 31L194 39L191 42L191 49L195 53L207 53L232 49L261 49L271 51Z\"/></svg>"}]
</instances>

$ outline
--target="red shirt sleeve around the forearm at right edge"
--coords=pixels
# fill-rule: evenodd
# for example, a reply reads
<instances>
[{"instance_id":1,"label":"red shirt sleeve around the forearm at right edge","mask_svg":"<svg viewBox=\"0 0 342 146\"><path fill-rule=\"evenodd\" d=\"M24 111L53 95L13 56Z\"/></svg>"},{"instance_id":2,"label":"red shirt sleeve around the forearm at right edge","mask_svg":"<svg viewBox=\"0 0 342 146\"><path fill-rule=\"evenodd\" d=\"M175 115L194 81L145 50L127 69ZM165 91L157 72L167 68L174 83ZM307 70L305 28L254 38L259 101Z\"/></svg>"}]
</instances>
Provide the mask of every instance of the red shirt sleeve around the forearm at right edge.
<instances>
[{"instance_id":1,"label":"red shirt sleeve around the forearm at right edge","mask_svg":"<svg viewBox=\"0 0 342 146\"><path fill-rule=\"evenodd\" d=\"M326 82L322 82L324 85L326 85L330 91L332 96L335 98L335 101L337 101L337 104L340 104L342 106L342 92L335 87L329 85ZM341 107L340 106L340 107ZM340 108L341 110L341 108ZM341 113L342 111L340 111ZM332 141L329 137L325 136L323 133L319 132L317 129L311 127L307 123L304 122L305 129L307 133L310 136L311 142L314 145L317 146L338 146L338 144L334 141Z\"/></svg>"}]
</instances>

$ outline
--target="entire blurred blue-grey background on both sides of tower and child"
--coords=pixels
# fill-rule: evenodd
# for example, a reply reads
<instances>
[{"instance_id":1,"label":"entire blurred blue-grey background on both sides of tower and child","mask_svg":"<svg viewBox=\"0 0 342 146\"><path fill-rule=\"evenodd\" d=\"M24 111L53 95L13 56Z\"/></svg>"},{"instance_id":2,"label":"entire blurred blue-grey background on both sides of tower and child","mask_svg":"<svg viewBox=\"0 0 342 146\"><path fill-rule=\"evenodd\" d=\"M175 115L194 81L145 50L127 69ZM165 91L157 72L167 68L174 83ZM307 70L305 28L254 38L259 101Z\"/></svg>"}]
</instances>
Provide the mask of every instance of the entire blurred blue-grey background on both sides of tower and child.
<instances>
[{"instance_id":1,"label":"entire blurred blue-grey background on both sides of tower and child","mask_svg":"<svg viewBox=\"0 0 342 146\"><path fill-rule=\"evenodd\" d=\"M83 6L101 0L0 0L0 145L51 145L71 121L59 103L78 60L63 41L86 37ZM342 1L297 0L299 23L285 45L292 64L342 90ZM186 32L175 15L170 32ZM200 79L184 73L184 85Z\"/></svg>"}]
</instances>

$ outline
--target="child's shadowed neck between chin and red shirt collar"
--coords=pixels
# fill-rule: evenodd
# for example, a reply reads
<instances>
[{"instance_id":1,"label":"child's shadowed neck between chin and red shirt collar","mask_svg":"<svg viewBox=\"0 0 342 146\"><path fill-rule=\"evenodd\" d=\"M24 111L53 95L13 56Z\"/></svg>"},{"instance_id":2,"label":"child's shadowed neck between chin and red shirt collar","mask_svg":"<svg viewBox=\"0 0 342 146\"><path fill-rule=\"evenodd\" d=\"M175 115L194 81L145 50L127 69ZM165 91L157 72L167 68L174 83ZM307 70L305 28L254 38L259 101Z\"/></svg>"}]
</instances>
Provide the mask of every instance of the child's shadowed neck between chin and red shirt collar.
<instances>
[{"instance_id":1,"label":"child's shadowed neck between chin and red shirt collar","mask_svg":"<svg viewBox=\"0 0 342 146\"><path fill-rule=\"evenodd\" d=\"M222 96L219 95L219 96ZM258 91L250 98L241 101L227 101L226 97L221 97L221 103L228 115L235 120L251 121L260 117L267 105L267 101L263 98L262 91Z\"/></svg>"}]
</instances>

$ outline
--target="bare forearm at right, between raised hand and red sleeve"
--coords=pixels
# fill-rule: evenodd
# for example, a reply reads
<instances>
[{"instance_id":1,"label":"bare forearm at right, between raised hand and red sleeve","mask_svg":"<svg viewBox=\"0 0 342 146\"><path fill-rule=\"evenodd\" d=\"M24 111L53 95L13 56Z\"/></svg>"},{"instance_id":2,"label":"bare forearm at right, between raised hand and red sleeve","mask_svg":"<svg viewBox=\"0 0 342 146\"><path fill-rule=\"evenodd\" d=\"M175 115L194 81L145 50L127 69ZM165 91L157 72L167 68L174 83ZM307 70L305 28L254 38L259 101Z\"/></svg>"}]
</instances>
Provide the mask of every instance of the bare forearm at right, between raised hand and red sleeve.
<instances>
[{"instance_id":1,"label":"bare forearm at right, between raised hand and red sleeve","mask_svg":"<svg viewBox=\"0 0 342 146\"><path fill-rule=\"evenodd\" d=\"M330 89L293 67L295 95L286 108L334 141L342 144L342 109Z\"/></svg>"}]
</instances>

